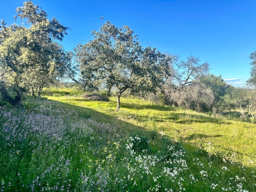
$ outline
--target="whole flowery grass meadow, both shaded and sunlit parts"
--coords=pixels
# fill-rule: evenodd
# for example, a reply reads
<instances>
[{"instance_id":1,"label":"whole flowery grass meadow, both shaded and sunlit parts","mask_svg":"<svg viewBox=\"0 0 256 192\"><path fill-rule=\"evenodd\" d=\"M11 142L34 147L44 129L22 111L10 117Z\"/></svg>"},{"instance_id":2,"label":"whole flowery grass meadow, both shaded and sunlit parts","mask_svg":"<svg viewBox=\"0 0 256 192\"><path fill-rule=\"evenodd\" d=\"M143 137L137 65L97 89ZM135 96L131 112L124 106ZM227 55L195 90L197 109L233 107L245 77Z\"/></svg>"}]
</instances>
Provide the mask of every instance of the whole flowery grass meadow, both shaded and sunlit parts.
<instances>
[{"instance_id":1,"label":"whole flowery grass meadow, both shaded and sunlit parts","mask_svg":"<svg viewBox=\"0 0 256 192\"><path fill-rule=\"evenodd\" d=\"M256 124L71 92L0 107L1 191L256 191Z\"/></svg>"}]
</instances>

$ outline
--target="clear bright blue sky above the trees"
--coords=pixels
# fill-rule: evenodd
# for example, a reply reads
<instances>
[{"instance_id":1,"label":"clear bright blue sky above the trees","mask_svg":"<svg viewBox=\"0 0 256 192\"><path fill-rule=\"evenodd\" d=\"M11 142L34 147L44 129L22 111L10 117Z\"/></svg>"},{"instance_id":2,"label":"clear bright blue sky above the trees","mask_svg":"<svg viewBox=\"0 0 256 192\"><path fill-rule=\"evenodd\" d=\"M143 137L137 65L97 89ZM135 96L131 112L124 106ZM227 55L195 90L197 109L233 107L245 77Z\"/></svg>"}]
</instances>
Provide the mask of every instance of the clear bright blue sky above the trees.
<instances>
[{"instance_id":1,"label":"clear bright blue sky above the trees","mask_svg":"<svg viewBox=\"0 0 256 192\"><path fill-rule=\"evenodd\" d=\"M0 0L0 19L11 24L25 0ZM32 0L72 30L62 44L88 42L103 22L129 26L141 45L208 61L210 72L239 85L250 77L256 50L256 0Z\"/></svg>"}]
</instances>

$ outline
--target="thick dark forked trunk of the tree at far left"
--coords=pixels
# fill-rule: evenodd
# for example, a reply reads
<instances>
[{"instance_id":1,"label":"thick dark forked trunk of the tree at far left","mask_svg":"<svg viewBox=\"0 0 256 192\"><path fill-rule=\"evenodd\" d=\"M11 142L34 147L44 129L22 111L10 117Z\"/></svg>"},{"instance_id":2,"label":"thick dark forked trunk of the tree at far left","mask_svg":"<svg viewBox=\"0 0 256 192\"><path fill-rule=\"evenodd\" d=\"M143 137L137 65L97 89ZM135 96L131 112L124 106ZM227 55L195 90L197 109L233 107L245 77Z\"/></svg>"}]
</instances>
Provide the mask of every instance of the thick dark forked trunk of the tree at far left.
<instances>
[{"instance_id":1,"label":"thick dark forked trunk of the tree at far left","mask_svg":"<svg viewBox=\"0 0 256 192\"><path fill-rule=\"evenodd\" d=\"M21 103L22 94L23 94L23 92L21 90L16 91L17 95L15 96L14 99L8 95L7 90L4 86L0 86L0 92L3 96L3 100L9 102L15 108L23 108L24 107Z\"/></svg>"}]
</instances>

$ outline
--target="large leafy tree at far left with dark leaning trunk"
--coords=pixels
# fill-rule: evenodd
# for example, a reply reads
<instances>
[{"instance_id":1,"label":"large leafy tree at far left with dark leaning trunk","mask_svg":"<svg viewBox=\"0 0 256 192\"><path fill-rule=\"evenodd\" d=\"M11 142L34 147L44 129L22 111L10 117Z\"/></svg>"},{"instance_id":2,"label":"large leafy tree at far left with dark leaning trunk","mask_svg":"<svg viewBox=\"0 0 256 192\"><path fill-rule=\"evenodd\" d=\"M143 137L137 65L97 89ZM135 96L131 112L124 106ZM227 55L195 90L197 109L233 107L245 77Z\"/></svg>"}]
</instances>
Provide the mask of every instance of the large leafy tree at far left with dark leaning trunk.
<instances>
[{"instance_id":1,"label":"large leafy tree at far left with dark leaning trunk","mask_svg":"<svg viewBox=\"0 0 256 192\"><path fill-rule=\"evenodd\" d=\"M58 44L66 35L67 27L57 19L47 19L47 14L31 0L17 8L17 16L29 25L0 25L0 91L3 99L13 106L22 106L24 90L38 91L64 75L66 54ZM16 16L16 18L17 18ZM17 93L15 99L6 89Z\"/></svg>"}]
</instances>

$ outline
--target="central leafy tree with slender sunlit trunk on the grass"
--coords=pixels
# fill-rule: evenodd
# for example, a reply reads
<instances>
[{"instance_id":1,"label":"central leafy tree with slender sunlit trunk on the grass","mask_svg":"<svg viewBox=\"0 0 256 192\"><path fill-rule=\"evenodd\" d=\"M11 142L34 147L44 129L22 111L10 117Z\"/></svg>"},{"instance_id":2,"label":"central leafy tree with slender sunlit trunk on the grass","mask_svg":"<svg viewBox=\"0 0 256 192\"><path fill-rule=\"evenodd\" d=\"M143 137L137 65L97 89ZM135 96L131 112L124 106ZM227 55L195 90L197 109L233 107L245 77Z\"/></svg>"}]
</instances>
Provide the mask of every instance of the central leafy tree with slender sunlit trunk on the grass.
<instances>
[{"instance_id":1,"label":"central leafy tree with slender sunlit trunk on the grass","mask_svg":"<svg viewBox=\"0 0 256 192\"><path fill-rule=\"evenodd\" d=\"M117 89L117 108L120 97L128 88L131 92L153 91L169 74L171 58L156 51L143 49L137 35L128 27L118 28L110 22L93 31L93 40L75 49L80 77L87 82L102 80ZM83 76L84 75L84 76Z\"/></svg>"}]
</instances>

